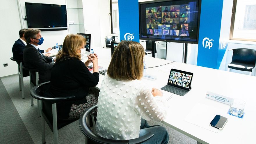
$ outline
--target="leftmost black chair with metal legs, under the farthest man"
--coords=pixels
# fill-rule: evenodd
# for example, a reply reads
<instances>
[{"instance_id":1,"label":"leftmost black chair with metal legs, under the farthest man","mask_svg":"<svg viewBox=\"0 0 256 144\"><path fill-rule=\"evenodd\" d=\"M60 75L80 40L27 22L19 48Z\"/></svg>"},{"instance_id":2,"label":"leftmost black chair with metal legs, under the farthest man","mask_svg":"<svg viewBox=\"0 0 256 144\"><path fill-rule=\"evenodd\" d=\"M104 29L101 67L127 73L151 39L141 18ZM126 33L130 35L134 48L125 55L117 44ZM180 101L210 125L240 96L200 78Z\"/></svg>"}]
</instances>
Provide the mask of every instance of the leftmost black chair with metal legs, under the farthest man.
<instances>
[{"instance_id":1,"label":"leftmost black chair with metal legs, under the farthest man","mask_svg":"<svg viewBox=\"0 0 256 144\"><path fill-rule=\"evenodd\" d=\"M24 96L24 82L23 77L26 77L23 75L23 69L22 69L22 60L16 60L13 57L10 58L12 61L16 61L18 64L18 75L19 75L19 90L21 91L22 99L25 98Z\"/></svg>"}]
</instances>

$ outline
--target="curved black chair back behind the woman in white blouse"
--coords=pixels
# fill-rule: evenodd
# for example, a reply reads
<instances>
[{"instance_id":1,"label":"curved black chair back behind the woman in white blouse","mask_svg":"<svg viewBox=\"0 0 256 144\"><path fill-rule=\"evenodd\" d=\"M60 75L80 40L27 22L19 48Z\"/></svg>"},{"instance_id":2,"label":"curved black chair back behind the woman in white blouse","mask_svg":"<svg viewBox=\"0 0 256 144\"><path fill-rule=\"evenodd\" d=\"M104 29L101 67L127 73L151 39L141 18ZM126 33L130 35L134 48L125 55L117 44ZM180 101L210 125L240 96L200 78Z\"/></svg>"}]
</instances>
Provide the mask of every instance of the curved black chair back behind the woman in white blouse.
<instances>
[{"instance_id":1,"label":"curved black chair back behind the woman in white blouse","mask_svg":"<svg viewBox=\"0 0 256 144\"><path fill-rule=\"evenodd\" d=\"M90 118L90 113L94 109L97 108L98 105L92 106L88 108L80 117L79 120L79 126L83 134L85 135L85 143L89 142L89 144L113 144L113 143L118 143L118 144L136 144L136 143L143 143L150 139L152 136L154 136L153 133L147 133L144 136L141 136L139 138L134 138L130 140L112 140L112 139L107 139L103 138L101 136L98 136L97 134L93 133L93 128L90 126L90 119L94 120L94 118ZM95 125L95 124L94 124Z\"/></svg>"}]
</instances>

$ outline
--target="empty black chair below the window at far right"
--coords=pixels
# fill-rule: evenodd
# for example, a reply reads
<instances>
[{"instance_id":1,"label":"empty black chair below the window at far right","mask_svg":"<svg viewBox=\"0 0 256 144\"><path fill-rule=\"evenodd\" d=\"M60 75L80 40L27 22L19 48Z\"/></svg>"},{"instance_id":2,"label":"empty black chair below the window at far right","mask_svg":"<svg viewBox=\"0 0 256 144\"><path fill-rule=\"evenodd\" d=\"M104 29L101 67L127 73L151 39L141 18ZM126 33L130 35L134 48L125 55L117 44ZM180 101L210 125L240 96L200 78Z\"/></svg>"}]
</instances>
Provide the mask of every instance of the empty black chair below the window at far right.
<instances>
[{"instance_id":1,"label":"empty black chair below the window at far right","mask_svg":"<svg viewBox=\"0 0 256 144\"><path fill-rule=\"evenodd\" d=\"M228 51L233 51L233 56L231 63L229 63L227 66L227 71L230 72L231 69L242 70L250 72L249 75L252 75L256 62L256 50L246 48L234 48L229 49Z\"/></svg>"}]
</instances>

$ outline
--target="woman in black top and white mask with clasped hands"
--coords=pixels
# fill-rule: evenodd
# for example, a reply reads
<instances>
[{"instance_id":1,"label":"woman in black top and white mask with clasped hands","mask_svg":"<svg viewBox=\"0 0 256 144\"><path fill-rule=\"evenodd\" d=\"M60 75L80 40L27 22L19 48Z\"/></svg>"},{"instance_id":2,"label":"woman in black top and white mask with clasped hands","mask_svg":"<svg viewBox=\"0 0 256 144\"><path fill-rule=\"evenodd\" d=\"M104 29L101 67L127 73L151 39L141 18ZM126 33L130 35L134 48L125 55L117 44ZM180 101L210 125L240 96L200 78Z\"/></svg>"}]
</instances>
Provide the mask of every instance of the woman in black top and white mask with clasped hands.
<instances>
[{"instance_id":1,"label":"woman in black top and white mask with clasped hands","mask_svg":"<svg viewBox=\"0 0 256 144\"><path fill-rule=\"evenodd\" d=\"M74 99L57 103L59 119L77 119L90 106L97 104L98 91L94 87L99 82L97 54L90 54L83 63L81 49L86 39L81 35L69 34L65 37L61 51L56 55L56 63L51 71L51 85L45 92L48 97L74 95ZM93 63L93 73L88 70Z\"/></svg>"}]
</instances>

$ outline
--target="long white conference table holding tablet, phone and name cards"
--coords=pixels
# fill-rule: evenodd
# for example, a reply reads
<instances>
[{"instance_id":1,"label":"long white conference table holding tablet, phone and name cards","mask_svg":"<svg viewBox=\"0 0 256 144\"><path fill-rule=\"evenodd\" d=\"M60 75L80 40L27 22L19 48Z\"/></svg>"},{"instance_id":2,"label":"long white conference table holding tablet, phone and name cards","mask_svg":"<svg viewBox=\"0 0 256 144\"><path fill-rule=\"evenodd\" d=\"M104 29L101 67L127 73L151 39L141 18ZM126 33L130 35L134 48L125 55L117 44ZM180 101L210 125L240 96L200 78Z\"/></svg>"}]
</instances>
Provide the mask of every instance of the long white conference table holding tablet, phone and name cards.
<instances>
[{"instance_id":1,"label":"long white conference table holding tablet, phone and name cards","mask_svg":"<svg viewBox=\"0 0 256 144\"><path fill-rule=\"evenodd\" d=\"M111 61L111 50L97 47L93 49L98 54L98 65L102 66L103 70L107 69ZM82 61L86 61L86 58ZM163 97L171 96L167 101L169 104L168 115L162 121L163 124L193 138L198 143L256 143L254 142L256 134L254 91L256 77L148 56L145 56L145 64L146 68L153 67L147 68L146 74L156 78L155 80L142 79L149 88L160 89L165 86L172 68L193 73L191 90L183 97L162 90ZM162 66L155 67L158 65ZM103 78L104 75L99 74L99 83L96 88L100 88ZM243 99L246 102L244 117L238 118L229 115L230 105L206 98L208 91L230 98ZM223 130L209 125L217 114L228 119Z\"/></svg>"}]
</instances>

